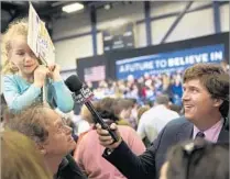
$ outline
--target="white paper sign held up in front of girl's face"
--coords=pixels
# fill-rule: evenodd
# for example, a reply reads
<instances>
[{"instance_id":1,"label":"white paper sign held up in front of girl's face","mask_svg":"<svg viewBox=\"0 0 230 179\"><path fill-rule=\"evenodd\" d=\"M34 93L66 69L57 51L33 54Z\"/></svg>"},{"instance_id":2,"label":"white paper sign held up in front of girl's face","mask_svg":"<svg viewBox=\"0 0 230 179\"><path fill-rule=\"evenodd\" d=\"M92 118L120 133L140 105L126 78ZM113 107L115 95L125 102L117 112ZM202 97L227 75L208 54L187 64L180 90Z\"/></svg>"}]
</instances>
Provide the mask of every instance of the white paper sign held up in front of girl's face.
<instances>
[{"instance_id":1,"label":"white paper sign held up in front of girl's face","mask_svg":"<svg viewBox=\"0 0 230 179\"><path fill-rule=\"evenodd\" d=\"M54 44L45 27L45 23L40 20L40 16L31 3L29 9L28 45L42 64L52 65L55 63Z\"/></svg>"}]
</instances>

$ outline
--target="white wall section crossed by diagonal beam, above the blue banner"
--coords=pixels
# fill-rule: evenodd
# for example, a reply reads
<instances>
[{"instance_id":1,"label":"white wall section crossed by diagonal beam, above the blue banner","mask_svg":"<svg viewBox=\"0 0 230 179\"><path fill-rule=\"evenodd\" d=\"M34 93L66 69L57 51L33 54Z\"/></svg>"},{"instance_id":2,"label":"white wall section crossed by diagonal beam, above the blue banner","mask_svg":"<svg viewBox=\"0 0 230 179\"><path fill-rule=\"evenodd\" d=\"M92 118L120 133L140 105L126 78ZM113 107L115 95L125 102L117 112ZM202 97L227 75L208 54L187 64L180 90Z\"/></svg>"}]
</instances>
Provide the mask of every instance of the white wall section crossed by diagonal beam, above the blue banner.
<instances>
[{"instance_id":1,"label":"white wall section crossed by diagonal beam, above the blue banner","mask_svg":"<svg viewBox=\"0 0 230 179\"><path fill-rule=\"evenodd\" d=\"M210 3L211 2L194 2L189 10ZM161 5L156 7L155 10L152 10L152 15L157 16L165 13L180 12L185 9L186 4L187 2L162 3ZM152 9L154 9L154 2L152 2ZM215 31L212 16L212 8L186 13L167 37L166 42L175 42L213 34ZM161 43L162 38L171 25L175 22L176 18L177 16L171 16L152 21L152 44L156 45Z\"/></svg>"}]
</instances>

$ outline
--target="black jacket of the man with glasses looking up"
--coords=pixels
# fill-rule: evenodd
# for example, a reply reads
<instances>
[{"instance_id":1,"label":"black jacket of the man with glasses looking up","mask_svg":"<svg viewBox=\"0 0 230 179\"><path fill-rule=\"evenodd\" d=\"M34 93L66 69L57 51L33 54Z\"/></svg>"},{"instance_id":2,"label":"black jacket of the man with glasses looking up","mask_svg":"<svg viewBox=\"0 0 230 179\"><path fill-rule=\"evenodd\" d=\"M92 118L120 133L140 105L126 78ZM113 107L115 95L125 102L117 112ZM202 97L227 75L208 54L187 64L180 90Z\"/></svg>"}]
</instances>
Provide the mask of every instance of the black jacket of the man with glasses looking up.
<instances>
[{"instance_id":1,"label":"black jacket of the man with glasses looking up","mask_svg":"<svg viewBox=\"0 0 230 179\"><path fill-rule=\"evenodd\" d=\"M61 163L54 179L87 179L72 155L67 155Z\"/></svg>"}]
</instances>

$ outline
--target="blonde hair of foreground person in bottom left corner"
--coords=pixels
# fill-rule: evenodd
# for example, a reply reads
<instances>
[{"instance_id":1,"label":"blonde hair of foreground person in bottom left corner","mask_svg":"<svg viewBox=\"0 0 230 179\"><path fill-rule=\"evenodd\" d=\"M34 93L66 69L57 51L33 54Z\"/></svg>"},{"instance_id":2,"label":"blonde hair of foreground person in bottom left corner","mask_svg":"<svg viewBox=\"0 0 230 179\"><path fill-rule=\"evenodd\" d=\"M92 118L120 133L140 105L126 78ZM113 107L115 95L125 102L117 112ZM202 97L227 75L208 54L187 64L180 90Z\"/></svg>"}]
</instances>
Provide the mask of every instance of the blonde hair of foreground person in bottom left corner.
<instances>
[{"instance_id":1,"label":"blonde hair of foreground person in bottom left corner","mask_svg":"<svg viewBox=\"0 0 230 179\"><path fill-rule=\"evenodd\" d=\"M1 132L1 179L52 179L35 143L21 133Z\"/></svg>"}]
</instances>

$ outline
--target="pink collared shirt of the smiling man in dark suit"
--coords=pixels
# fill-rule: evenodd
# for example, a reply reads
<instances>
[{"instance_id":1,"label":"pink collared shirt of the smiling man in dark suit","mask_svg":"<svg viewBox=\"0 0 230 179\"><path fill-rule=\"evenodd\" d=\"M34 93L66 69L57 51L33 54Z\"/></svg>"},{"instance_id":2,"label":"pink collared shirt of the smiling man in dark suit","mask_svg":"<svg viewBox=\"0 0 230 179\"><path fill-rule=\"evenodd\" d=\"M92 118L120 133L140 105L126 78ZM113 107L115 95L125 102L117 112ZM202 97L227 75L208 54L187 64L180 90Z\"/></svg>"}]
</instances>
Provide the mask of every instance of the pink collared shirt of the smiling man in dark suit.
<instances>
[{"instance_id":1,"label":"pink collared shirt of the smiling man in dark suit","mask_svg":"<svg viewBox=\"0 0 230 179\"><path fill-rule=\"evenodd\" d=\"M220 120L215 125L212 125L210 128L204 131L205 139L216 143L219 137L222 125L223 125L223 120ZM194 125L194 137L193 138L196 137L198 132L199 132L199 130Z\"/></svg>"}]
</instances>

